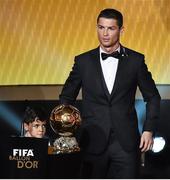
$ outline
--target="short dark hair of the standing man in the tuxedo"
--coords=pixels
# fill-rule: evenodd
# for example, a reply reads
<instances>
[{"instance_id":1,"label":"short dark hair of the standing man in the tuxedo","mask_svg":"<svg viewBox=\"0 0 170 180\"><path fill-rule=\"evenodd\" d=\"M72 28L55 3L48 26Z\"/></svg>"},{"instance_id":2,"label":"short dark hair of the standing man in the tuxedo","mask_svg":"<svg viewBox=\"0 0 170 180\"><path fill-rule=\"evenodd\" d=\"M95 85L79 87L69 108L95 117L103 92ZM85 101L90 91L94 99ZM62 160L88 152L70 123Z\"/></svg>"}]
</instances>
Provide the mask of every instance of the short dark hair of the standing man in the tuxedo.
<instances>
[{"instance_id":1,"label":"short dark hair of the standing man in the tuxedo","mask_svg":"<svg viewBox=\"0 0 170 180\"><path fill-rule=\"evenodd\" d=\"M116 9L103 9L97 17L97 23L99 22L99 18L107 18L107 19L115 19L117 20L117 24L119 28L123 26L123 15L121 12Z\"/></svg>"}]
</instances>

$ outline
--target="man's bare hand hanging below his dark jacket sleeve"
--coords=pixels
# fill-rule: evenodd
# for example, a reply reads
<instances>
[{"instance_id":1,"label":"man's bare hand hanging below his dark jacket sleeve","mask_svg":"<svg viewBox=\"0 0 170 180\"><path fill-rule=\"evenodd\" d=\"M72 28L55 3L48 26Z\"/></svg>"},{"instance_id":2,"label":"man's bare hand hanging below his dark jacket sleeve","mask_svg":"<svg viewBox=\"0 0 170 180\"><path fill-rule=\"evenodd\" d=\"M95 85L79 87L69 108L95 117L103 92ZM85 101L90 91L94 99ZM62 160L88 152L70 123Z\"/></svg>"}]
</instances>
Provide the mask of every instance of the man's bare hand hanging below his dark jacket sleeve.
<instances>
[{"instance_id":1,"label":"man's bare hand hanging below his dark jacket sleeve","mask_svg":"<svg viewBox=\"0 0 170 180\"><path fill-rule=\"evenodd\" d=\"M146 152L148 150L151 150L152 146L153 146L152 132L144 131L140 139L139 148L141 149L141 152Z\"/></svg>"}]
</instances>

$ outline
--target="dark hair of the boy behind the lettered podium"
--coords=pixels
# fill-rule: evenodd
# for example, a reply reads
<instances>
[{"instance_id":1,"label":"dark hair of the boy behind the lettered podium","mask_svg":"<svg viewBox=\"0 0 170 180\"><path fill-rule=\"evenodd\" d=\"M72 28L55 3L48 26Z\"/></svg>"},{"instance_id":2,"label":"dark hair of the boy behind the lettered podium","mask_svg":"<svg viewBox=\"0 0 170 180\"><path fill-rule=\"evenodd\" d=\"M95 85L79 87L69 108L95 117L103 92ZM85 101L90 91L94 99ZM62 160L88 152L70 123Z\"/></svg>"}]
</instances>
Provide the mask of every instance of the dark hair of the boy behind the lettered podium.
<instances>
[{"instance_id":1,"label":"dark hair of the boy behind the lettered podium","mask_svg":"<svg viewBox=\"0 0 170 180\"><path fill-rule=\"evenodd\" d=\"M46 121L46 113L44 109L40 107L26 107L25 113L24 113L24 119L23 122L26 124L32 123L35 121L35 118L38 118L40 121Z\"/></svg>"}]
</instances>

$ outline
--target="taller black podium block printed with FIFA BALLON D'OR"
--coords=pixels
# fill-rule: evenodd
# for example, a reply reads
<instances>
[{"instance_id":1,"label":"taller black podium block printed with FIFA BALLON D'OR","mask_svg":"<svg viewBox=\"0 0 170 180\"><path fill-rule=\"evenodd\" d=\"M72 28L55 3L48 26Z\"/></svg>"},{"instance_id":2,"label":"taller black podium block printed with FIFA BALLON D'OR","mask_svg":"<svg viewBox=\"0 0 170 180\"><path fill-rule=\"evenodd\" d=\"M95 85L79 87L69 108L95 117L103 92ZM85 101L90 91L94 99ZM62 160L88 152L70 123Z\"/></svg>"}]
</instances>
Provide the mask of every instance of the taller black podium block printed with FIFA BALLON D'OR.
<instances>
[{"instance_id":1,"label":"taller black podium block printed with FIFA BALLON D'OR","mask_svg":"<svg viewBox=\"0 0 170 180\"><path fill-rule=\"evenodd\" d=\"M48 140L1 138L1 178L46 178Z\"/></svg>"}]
</instances>

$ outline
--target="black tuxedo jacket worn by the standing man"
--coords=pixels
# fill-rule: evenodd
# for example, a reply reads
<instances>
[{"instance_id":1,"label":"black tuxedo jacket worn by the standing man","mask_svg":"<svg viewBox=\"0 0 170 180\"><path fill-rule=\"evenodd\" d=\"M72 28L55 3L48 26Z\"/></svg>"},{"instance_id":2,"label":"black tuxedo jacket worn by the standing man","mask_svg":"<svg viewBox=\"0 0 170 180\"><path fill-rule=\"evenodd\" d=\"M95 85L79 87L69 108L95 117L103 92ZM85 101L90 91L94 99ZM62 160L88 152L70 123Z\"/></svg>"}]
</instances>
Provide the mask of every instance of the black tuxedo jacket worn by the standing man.
<instances>
[{"instance_id":1,"label":"black tuxedo jacket worn by the standing man","mask_svg":"<svg viewBox=\"0 0 170 180\"><path fill-rule=\"evenodd\" d=\"M82 88L82 125L79 143L89 153L101 153L110 131L126 151L139 148L135 93L139 87L146 102L143 131L154 131L159 117L160 95L144 62L144 55L121 46L111 95L100 65L99 48L75 57L75 63L60 94L60 102L73 104Z\"/></svg>"}]
</instances>

